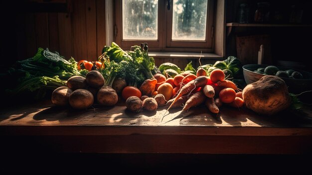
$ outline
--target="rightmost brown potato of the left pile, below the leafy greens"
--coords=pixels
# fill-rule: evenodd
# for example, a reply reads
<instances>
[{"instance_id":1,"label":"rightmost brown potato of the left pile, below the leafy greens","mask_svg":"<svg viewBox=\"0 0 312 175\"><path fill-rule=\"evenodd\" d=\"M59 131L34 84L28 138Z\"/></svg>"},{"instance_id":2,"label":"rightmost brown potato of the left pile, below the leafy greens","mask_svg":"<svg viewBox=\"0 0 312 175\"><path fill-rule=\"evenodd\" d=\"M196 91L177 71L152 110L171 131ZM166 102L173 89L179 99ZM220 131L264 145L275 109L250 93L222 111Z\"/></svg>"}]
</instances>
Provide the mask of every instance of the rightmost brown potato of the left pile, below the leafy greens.
<instances>
[{"instance_id":1,"label":"rightmost brown potato of the left pile, below the leafy greens","mask_svg":"<svg viewBox=\"0 0 312 175\"><path fill-rule=\"evenodd\" d=\"M98 103L104 106L114 106L118 102L117 92L110 86L103 86L97 94Z\"/></svg>"}]
</instances>

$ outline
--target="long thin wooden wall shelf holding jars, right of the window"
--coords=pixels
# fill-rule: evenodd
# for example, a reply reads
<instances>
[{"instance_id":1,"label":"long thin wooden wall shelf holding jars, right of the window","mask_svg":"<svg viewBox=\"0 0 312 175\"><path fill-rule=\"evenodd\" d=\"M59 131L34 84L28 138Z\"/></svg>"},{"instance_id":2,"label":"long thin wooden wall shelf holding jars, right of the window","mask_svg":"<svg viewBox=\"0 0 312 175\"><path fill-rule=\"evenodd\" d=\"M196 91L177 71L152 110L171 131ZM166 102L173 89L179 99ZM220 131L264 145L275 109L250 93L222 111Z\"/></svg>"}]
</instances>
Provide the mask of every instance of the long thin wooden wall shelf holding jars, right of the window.
<instances>
[{"instance_id":1,"label":"long thin wooden wall shelf holding jars, right of the window","mask_svg":"<svg viewBox=\"0 0 312 175\"><path fill-rule=\"evenodd\" d=\"M227 27L312 27L312 24L226 23Z\"/></svg>"}]
</instances>

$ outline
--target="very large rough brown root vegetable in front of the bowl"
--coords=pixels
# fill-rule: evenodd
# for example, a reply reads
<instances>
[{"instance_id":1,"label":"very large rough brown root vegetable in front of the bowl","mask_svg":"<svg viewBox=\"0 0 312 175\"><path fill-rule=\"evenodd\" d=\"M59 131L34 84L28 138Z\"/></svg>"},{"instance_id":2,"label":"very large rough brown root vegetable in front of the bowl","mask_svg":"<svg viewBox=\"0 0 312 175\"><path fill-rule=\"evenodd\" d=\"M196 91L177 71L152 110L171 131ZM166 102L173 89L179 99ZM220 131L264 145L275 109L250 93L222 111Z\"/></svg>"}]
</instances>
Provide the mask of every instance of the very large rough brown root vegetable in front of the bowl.
<instances>
[{"instance_id":1,"label":"very large rough brown root vegetable in front of the bowl","mask_svg":"<svg viewBox=\"0 0 312 175\"><path fill-rule=\"evenodd\" d=\"M265 115L273 115L291 105L291 97L284 80L266 75L248 84L242 94L247 108Z\"/></svg>"}]
</instances>

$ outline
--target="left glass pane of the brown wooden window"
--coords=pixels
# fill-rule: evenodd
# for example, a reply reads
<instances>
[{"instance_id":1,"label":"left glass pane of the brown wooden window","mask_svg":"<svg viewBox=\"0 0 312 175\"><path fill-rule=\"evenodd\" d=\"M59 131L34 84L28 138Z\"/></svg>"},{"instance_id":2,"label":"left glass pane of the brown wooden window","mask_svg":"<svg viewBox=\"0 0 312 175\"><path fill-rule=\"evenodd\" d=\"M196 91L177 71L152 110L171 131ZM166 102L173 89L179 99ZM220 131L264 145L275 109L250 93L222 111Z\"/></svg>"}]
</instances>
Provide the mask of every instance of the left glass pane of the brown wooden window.
<instances>
[{"instance_id":1,"label":"left glass pane of the brown wooden window","mask_svg":"<svg viewBox=\"0 0 312 175\"><path fill-rule=\"evenodd\" d=\"M123 39L157 39L158 0L123 0Z\"/></svg>"}]
</instances>

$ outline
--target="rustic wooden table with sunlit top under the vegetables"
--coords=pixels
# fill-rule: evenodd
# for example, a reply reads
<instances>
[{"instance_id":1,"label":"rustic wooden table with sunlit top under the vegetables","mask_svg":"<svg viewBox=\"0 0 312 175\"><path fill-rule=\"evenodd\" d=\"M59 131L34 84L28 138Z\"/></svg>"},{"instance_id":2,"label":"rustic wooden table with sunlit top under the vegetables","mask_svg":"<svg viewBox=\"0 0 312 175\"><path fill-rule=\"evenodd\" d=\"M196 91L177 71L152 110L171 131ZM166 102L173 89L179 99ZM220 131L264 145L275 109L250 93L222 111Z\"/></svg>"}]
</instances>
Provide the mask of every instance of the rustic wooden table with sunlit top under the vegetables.
<instances>
[{"instance_id":1,"label":"rustic wooden table with sunlit top under the vegetables","mask_svg":"<svg viewBox=\"0 0 312 175\"><path fill-rule=\"evenodd\" d=\"M77 111L50 101L1 109L3 149L71 153L311 154L311 109L257 115L246 108L205 107L128 112L124 105ZM176 116L183 118L164 123ZM304 115L304 116L303 116ZM22 145L22 147L20 147Z\"/></svg>"}]
</instances>

